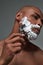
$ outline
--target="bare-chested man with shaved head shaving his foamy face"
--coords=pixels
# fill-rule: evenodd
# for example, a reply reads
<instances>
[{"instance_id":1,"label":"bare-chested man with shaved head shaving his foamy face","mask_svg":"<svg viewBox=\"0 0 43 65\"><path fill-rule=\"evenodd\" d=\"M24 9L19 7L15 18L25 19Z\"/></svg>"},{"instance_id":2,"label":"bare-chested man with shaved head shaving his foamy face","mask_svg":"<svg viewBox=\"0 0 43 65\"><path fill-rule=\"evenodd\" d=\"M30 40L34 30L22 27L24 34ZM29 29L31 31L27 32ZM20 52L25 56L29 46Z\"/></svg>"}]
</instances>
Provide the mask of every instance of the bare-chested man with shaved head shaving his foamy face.
<instances>
[{"instance_id":1,"label":"bare-chested man with shaved head shaving his foamy face","mask_svg":"<svg viewBox=\"0 0 43 65\"><path fill-rule=\"evenodd\" d=\"M35 6L25 6L15 17L12 33L3 44L0 65L43 65L43 50L31 43L43 25L43 14Z\"/></svg>"}]
</instances>

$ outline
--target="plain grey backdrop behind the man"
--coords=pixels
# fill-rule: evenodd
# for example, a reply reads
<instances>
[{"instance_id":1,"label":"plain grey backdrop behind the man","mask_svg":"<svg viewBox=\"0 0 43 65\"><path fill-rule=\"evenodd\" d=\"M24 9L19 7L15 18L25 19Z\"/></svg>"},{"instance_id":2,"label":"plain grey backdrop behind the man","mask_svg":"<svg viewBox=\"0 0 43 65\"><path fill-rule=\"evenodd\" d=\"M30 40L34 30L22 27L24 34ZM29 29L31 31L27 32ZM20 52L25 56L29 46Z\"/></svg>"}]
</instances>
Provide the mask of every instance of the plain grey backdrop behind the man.
<instances>
[{"instance_id":1,"label":"plain grey backdrop behind the man","mask_svg":"<svg viewBox=\"0 0 43 65\"><path fill-rule=\"evenodd\" d=\"M43 12L43 0L0 0L0 40L10 34L16 12L24 5L38 6ZM33 42L43 49L43 28L38 39Z\"/></svg>"}]
</instances>

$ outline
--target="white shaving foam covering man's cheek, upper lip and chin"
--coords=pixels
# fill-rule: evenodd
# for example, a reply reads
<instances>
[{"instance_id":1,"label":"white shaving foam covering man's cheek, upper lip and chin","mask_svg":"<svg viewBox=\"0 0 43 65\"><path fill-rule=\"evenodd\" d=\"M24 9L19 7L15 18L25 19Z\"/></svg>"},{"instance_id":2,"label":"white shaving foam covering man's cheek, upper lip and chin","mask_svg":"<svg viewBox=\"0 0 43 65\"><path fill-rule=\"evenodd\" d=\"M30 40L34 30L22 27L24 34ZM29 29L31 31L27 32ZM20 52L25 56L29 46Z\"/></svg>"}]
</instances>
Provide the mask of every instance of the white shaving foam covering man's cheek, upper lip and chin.
<instances>
[{"instance_id":1,"label":"white shaving foam covering man's cheek, upper lip and chin","mask_svg":"<svg viewBox=\"0 0 43 65\"><path fill-rule=\"evenodd\" d=\"M27 35L27 38L30 40L34 40L37 38L38 34L36 34L35 32L32 31L32 28L40 28L39 25L34 25L31 24L30 21L27 20L27 17L22 18L22 20L20 21L20 23L22 23L21 27L20 27L20 31L24 34Z\"/></svg>"}]
</instances>

